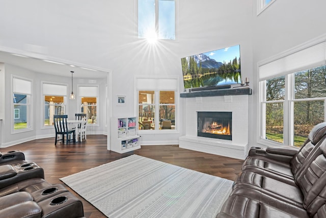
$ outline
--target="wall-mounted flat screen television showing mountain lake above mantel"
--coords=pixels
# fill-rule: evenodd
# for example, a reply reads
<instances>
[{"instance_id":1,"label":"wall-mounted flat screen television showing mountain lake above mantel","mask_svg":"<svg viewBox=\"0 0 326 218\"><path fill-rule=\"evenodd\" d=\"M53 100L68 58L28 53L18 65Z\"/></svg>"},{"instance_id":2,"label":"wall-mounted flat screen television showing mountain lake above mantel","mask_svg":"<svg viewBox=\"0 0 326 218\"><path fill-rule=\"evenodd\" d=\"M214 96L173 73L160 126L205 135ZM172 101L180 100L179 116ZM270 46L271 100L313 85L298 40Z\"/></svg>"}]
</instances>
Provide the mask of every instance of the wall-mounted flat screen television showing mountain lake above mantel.
<instances>
[{"instance_id":1,"label":"wall-mounted flat screen television showing mountain lake above mantel","mask_svg":"<svg viewBox=\"0 0 326 218\"><path fill-rule=\"evenodd\" d=\"M181 58L184 88L241 83L240 45Z\"/></svg>"}]
</instances>

